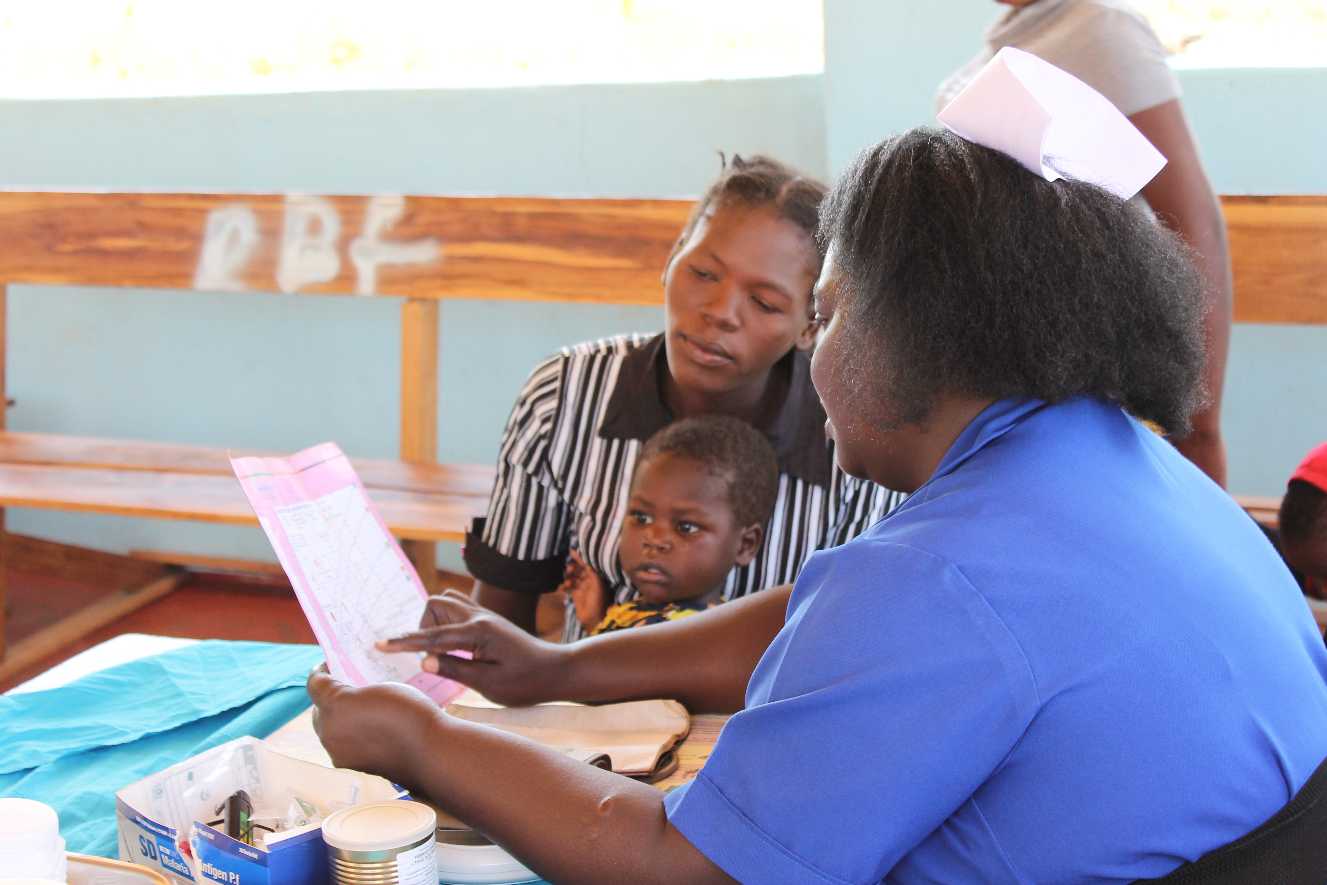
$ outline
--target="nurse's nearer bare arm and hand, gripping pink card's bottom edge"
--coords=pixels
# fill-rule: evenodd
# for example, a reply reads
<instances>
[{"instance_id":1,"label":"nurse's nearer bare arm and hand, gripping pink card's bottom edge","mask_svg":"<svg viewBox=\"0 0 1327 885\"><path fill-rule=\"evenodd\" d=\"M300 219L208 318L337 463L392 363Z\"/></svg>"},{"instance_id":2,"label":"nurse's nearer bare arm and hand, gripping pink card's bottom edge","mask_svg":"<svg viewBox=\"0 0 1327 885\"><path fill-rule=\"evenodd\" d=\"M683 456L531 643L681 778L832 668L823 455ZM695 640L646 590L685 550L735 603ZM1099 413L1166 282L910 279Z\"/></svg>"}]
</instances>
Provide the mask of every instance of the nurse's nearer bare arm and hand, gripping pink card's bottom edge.
<instances>
[{"instance_id":1,"label":"nurse's nearer bare arm and hand, gripping pink card's bottom edge","mask_svg":"<svg viewBox=\"0 0 1327 885\"><path fill-rule=\"evenodd\" d=\"M514 628L515 629L515 628ZM733 880L664 813L664 793L515 735L446 715L399 683L309 677L314 727L337 767L429 796L555 882Z\"/></svg>"}]
</instances>

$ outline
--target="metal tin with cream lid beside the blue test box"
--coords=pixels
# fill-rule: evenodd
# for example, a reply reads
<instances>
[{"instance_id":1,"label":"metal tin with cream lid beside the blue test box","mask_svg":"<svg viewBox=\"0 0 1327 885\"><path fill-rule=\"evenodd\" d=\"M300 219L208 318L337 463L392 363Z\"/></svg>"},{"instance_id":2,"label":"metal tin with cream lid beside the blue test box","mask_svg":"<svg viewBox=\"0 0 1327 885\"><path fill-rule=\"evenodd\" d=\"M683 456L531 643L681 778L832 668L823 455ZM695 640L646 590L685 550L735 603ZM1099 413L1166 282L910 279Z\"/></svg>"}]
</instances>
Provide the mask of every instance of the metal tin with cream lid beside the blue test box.
<instances>
[{"instance_id":1,"label":"metal tin with cream lid beside the blue test box","mask_svg":"<svg viewBox=\"0 0 1327 885\"><path fill-rule=\"evenodd\" d=\"M438 816L417 801L350 805L322 821L333 885L437 885Z\"/></svg>"}]
</instances>

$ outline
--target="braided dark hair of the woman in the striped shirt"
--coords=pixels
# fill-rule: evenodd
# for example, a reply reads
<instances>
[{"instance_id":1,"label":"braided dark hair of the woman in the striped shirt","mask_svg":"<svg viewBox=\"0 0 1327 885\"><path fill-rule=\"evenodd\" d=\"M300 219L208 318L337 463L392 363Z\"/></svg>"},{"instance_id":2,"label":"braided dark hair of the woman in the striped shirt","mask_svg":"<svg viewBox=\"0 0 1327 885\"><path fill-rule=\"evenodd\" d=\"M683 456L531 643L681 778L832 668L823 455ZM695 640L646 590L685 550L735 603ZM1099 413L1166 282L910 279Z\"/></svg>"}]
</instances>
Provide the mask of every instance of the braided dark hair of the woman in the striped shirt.
<instances>
[{"instance_id":1,"label":"braided dark hair of the woman in the striped shirt","mask_svg":"<svg viewBox=\"0 0 1327 885\"><path fill-rule=\"evenodd\" d=\"M669 261L686 245L691 231L706 215L721 208L770 208L778 218L792 222L807 235L812 271L819 275L824 249L820 248L816 231L820 227L820 200L824 199L825 190L828 188L823 182L770 157L742 159L734 155L695 202Z\"/></svg>"}]
</instances>

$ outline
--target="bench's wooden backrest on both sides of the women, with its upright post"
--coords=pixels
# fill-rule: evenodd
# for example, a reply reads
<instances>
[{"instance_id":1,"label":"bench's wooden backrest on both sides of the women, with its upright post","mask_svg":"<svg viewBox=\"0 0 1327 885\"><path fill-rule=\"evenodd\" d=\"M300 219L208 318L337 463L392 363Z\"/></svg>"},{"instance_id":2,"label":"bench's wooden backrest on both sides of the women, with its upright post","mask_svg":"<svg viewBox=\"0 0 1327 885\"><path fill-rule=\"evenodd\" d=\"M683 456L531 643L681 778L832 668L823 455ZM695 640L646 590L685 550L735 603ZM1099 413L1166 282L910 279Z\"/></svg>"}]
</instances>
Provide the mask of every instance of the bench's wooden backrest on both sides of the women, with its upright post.
<instances>
[{"instance_id":1,"label":"bench's wooden backrest on both sides of the women, with its upright post","mask_svg":"<svg viewBox=\"0 0 1327 885\"><path fill-rule=\"evenodd\" d=\"M1327 196L1222 202L1235 320L1327 324ZM431 463L437 299L661 304L660 272L690 210L666 199L0 191L0 284L405 296L401 458Z\"/></svg>"}]
</instances>

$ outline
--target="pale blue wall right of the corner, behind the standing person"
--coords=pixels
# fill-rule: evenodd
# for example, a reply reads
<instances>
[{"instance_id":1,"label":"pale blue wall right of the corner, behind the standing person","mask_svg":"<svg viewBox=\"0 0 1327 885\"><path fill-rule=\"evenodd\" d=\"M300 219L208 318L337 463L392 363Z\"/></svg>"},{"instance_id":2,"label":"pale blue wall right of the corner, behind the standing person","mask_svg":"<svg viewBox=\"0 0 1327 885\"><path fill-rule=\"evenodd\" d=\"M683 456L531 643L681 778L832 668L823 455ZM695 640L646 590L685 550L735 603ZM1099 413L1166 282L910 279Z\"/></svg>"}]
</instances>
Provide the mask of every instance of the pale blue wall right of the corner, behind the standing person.
<instances>
[{"instance_id":1,"label":"pale blue wall right of the corner, behind the standing person","mask_svg":"<svg viewBox=\"0 0 1327 885\"><path fill-rule=\"evenodd\" d=\"M932 123L936 86L977 54L999 12L990 0L825 0L824 9L832 172L865 145ZM1180 82L1217 191L1327 192L1327 68L1181 70ZM1231 491L1285 491L1327 439L1327 326L1234 329L1222 433Z\"/></svg>"}]
</instances>

